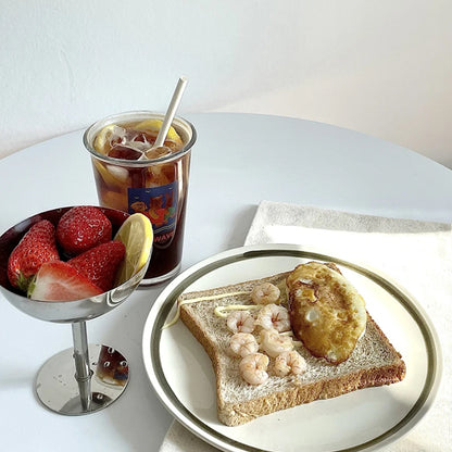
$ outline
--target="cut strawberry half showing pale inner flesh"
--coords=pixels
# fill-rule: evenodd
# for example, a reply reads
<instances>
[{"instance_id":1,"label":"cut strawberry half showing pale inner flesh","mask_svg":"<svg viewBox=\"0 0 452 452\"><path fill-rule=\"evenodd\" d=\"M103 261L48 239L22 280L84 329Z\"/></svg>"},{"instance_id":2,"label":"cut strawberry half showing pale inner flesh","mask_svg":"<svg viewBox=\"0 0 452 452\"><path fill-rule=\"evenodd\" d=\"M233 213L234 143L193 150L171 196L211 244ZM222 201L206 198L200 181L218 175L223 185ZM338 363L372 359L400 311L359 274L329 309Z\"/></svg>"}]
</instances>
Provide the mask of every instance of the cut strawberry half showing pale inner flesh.
<instances>
[{"instance_id":1,"label":"cut strawberry half showing pale inner flesh","mask_svg":"<svg viewBox=\"0 0 452 452\"><path fill-rule=\"evenodd\" d=\"M42 264L28 287L28 298L41 301L80 300L102 292L102 289L63 261Z\"/></svg>"}]
</instances>

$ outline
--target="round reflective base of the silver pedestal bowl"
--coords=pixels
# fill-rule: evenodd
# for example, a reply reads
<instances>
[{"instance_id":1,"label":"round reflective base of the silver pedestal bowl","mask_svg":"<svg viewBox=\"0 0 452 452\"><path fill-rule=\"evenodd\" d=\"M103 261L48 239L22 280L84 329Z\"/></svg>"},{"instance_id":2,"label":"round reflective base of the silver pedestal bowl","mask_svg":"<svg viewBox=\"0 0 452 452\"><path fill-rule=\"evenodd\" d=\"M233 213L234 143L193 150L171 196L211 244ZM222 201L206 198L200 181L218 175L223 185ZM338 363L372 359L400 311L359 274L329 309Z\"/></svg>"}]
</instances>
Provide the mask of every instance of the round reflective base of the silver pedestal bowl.
<instances>
[{"instance_id":1,"label":"round reflective base of the silver pedestal bowl","mask_svg":"<svg viewBox=\"0 0 452 452\"><path fill-rule=\"evenodd\" d=\"M74 349L46 361L35 382L38 399L46 407L70 416L85 415L111 405L124 392L129 375L123 354L100 344L89 344L88 353L90 378L85 381L75 377Z\"/></svg>"}]
</instances>

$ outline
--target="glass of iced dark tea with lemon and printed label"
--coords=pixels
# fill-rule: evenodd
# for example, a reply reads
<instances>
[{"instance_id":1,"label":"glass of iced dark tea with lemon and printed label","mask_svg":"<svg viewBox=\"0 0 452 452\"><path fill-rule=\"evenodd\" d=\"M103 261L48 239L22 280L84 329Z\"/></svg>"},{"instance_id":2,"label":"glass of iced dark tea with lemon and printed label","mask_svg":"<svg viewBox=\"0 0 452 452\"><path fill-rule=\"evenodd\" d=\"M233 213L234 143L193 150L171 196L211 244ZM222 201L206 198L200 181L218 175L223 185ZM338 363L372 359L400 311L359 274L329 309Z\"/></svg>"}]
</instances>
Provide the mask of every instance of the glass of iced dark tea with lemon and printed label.
<instances>
[{"instance_id":1,"label":"glass of iced dark tea with lemon and printed label","mask_svg":"<svg viewBox=\"0 0 452 452\"><path fill-rule=\"evenodd\" d=\"M91 154L99 203L149 217L154 233L142 285L173 277L180 268L191 148L197 134L175 117L164 145L153 149L164 114L138 111L91 125L84 143Z\"/></svg>"}]
</instances>

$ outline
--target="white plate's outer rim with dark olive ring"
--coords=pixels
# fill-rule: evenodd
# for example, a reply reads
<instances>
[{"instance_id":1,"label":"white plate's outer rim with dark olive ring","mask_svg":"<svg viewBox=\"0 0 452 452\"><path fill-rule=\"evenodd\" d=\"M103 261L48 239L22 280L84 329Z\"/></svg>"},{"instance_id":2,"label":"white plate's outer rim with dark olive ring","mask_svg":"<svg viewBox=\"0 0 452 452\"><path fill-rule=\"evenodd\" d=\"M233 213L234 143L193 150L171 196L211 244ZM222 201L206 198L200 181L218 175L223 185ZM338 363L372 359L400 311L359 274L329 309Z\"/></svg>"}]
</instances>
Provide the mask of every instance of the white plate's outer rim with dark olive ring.
<instances>
[{"instance_id":1,"label":"white plate's outer rim with dark olive ring","mask_svg":"<svg viewBox=\"0 0 452 452\"><path fill-rule=\"evenodd\" d=\"M427 349L428 369L423 390L409 413L394 426L384 434L372 438L361 444L340 449L335 452L357 452L380 449L384 445L400 439L407 434L430 410L438 393L442 375L442 351L437 331L420 303L412 297L404 288L393 282L380 271L373 269L367 264L357 264L338 256L326 254L321 249L287 243L265 243L243 246L219 252L206 258L199 263L180 273L154 301L145 323L142 334L142 359L145 369L150 384L163 403L164 407L187 429L201 438L203 441L226 452L271 452L266 449L255 448L225 437L222 432L206 425L201 418L192 414L172 391L165 380L163 369L159 360L159 346L161 326L173 309L177 297L192 282L211 271L226 265L227 263L256 259L262 256L299 256L300 259L314 259L323 262L331 261L338 265L352 269L380 286L384 290L397 298L410 316L419 327ZM161 372L160 372L161 371ZM332 452L332 451L331 451Z\"/></svg>"}]
</instances>

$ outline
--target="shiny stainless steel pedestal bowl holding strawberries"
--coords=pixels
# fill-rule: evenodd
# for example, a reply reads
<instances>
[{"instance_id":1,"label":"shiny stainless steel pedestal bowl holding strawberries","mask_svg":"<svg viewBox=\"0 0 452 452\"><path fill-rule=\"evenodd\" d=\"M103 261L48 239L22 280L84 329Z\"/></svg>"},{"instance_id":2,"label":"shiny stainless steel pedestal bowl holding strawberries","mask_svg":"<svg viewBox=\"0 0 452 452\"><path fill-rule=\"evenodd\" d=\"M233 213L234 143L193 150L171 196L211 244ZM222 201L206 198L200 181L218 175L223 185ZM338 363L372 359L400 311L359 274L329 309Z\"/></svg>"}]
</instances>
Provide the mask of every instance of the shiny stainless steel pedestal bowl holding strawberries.
<instances>
[{"instance_id":1,"label":"shiny stainless steel pedestal bowl holding strawberries","mask_svg":"<svg viewBox=\"0 0 452 452\"><path fill-rule=\"evenodd\" d=\"M27 299L8 279L8 258L35 223L49 219L56 226L70 209L54 209L33 215L0 237L0 292L25 314L41 321L72 325L73 348L55 354L42 365L35 390L48 409L60 414L81 415L110 405L123 393L128 382L127 360L112 347L88 344L86 321L103 315L124 302L140 284L149 261L130 279L96 297L61 302ZM99 209L111 221L114 236L128 214Z\"/></svg>"}]
</instances>

